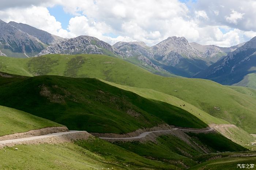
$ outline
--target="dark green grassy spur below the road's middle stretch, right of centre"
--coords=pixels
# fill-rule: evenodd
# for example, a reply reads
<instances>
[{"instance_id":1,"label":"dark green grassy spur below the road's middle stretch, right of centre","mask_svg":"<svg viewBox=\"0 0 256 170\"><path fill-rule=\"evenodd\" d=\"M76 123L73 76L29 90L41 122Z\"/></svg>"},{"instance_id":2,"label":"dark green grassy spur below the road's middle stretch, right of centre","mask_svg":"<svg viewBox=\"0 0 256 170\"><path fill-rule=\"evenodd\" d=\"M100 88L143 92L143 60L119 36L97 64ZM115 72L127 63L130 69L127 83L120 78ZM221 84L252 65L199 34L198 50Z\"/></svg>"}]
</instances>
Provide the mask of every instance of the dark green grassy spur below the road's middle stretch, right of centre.
<instances>
[{"instance_id":1,"label":"dark green grassy spur below the road's middle stretch, right of centre","mask_svg":"<svg viewBox=\"0 0 256 170\"><path fill-rule=\"evenodd\" d=\"M202 154L173 135L159 136L155 142L115 142L117 146L148 159L171 163L182 169L197 165L192 157Z\"/></svg>"}]
</instances>

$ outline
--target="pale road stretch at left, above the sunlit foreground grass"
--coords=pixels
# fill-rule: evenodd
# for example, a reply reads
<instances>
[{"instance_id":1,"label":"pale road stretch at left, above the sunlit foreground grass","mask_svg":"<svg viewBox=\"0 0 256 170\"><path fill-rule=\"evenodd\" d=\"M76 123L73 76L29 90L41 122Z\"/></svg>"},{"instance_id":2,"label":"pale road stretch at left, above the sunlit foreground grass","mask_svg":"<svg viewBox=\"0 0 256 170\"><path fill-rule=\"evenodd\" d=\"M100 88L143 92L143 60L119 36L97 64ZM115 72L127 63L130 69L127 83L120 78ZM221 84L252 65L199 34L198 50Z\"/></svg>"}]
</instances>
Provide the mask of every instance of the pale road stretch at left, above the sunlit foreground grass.
<instances>
[{"instance_id":1,"label":"pale road stretch at left, above the sunlit foreground grass","mask_svg":"<svg viewBox=\"0 0 256 170\"><path fill-rule=\"evenodd\" d=\"M61 135L67 135L67 134L74 134L74 133L77 133L77 132L85 132L85 131L58 132L58 133L53 133L53 134L41 135L41 136L33 136L33 137L29 137L29 138L1 140L0 144L24 142L24 141L35 140L35 139L49 138L49 137L53 137L53 136L61 136Z\"/></svg>"}]
</instances>

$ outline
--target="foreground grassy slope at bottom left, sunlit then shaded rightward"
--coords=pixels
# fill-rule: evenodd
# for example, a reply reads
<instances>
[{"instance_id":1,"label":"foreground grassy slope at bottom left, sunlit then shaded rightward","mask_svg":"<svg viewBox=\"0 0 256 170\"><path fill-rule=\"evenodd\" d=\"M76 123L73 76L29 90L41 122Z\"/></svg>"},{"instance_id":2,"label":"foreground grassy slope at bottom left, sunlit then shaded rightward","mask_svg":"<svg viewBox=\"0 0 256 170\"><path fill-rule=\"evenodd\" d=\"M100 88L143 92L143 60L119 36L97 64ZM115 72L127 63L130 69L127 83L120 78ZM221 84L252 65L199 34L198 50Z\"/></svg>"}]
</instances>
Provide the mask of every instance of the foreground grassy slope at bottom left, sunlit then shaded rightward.
<instances>
[{"instance_id":1,"label":"foreground grassy slope at bottom left, sunlit then shaded rightward","mask_svg":"<svg viewBox=\"0 0 256 170\"><path fill-rule=\"evenodd\" d=\"M109 142L95 140L0 149L0 169L177 169L170 164L143 158ZM93 150L92 147L96 146L97 150Z\"/></svg>"}]
</instances>

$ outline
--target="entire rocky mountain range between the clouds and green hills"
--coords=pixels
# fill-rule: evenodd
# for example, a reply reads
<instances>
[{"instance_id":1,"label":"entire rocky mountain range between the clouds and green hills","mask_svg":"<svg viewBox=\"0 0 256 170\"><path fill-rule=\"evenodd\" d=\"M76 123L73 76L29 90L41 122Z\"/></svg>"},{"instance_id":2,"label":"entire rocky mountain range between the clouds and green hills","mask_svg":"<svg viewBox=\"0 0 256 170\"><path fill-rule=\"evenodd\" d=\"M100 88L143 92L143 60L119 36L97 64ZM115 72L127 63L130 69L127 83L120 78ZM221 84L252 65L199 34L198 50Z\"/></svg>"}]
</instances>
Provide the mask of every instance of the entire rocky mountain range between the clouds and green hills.
<instances>
[{"instance_id":1,"label":"entire rocky mountain range between the clouds and green hills","mask_svg":"<svg viewBox=\"0 0 256 170\"><path fill-rule=\"evenodd\" d=\"M225 85L256 88L254 43L252 39L236 46L218 47L172 36L151 47L144 42L117 42L111 46L92 36L64 39L27 24L0 20L1 56L105 54L162 76L205 78Z\"/></svg>"}]
</instances>

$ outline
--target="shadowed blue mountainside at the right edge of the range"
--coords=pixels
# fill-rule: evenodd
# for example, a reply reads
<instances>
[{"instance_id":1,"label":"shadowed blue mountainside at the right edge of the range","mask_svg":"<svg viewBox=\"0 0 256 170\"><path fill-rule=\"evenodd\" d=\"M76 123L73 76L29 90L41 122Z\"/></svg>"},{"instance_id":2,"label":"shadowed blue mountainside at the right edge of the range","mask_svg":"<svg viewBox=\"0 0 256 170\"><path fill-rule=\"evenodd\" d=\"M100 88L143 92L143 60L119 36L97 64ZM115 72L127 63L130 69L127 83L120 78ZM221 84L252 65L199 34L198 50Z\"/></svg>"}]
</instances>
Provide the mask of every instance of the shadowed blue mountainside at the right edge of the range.
<instances>
[{"instance_id":1,"label":"shadowed blue mountainside at the right edge of the range","mask_svg":"<svg viewBox=\"0 0 256 170\"><path fill-rule=\"evenodd\" d=\"M196 77L232 85L241 81L247 74L255 73L255 67L256 37L230 52L225 58L214 63Z\"/></svg>"}]
</instances>

